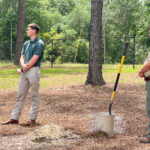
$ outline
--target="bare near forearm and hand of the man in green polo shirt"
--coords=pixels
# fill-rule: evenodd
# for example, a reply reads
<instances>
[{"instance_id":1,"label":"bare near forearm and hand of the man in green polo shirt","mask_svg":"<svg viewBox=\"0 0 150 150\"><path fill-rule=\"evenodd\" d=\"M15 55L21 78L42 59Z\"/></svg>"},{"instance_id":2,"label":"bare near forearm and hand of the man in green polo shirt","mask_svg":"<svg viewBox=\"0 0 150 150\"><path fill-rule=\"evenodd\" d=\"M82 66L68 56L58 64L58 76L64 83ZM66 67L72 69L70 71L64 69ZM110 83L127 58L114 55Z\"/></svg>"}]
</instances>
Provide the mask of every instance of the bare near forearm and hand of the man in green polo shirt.
<instances>
[{"instance_id":1,"label":"bare near forearm and hand of the man in green polo shirt","mask_svg":"<svg viewBox=\"0 0 150 150\"><path fill-rule=\"evenodd\" d=\"M37 62L37 60L39 59L39 57L40 57L39 55L33 55L33 57L31 58L31 60L23 68L23 72L28 71L32 66L34 66L34 64Z\"/></svg>"}]
</instances>

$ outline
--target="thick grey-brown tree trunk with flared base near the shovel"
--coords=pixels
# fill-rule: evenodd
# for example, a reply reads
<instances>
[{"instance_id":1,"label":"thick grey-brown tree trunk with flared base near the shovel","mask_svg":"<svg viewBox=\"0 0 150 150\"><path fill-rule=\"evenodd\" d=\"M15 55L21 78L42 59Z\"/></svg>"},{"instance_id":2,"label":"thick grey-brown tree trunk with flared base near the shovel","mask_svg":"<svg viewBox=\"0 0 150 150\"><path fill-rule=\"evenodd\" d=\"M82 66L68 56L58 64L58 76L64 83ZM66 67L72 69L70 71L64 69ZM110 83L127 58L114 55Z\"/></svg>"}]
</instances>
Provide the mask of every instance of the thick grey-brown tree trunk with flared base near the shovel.
<instances>
[{"instance_id":1,"label":"thick grey-brown tree trunk with flared base near the shovel","mask_svg":"<svg viewBox=\"0 0 150 150\"><path fill-rule=\"evenodd\" d=\"M92 0L90 60L88 76L85 84L105 84L102 76L102 9L103 0Z\"/></svg>"}]
</instances>

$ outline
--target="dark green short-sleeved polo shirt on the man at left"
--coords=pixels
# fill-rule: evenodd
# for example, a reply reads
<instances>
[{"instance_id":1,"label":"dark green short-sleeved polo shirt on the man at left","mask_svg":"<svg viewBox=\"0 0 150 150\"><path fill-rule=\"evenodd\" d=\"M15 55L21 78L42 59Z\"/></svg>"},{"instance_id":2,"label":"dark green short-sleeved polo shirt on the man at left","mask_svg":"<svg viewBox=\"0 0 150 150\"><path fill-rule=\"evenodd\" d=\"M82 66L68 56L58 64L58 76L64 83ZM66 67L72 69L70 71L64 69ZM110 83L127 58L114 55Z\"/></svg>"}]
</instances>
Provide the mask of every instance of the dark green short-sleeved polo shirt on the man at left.
<instances>
[{"instance_id":1,"label":"dark green short-sleeved polo shirt on the man at left","mask_svg":"<svg viewBox=\"0 0 150 150\"><path fill-rule=\"evenodd\" d=\"M36 37L33 41L28 40L24 43L21 54L24 55L24 63L27 64L33 55L39 55L39 59L34 66L41 66L44 53L44 42Z\"/></svg>"}]
</instances>

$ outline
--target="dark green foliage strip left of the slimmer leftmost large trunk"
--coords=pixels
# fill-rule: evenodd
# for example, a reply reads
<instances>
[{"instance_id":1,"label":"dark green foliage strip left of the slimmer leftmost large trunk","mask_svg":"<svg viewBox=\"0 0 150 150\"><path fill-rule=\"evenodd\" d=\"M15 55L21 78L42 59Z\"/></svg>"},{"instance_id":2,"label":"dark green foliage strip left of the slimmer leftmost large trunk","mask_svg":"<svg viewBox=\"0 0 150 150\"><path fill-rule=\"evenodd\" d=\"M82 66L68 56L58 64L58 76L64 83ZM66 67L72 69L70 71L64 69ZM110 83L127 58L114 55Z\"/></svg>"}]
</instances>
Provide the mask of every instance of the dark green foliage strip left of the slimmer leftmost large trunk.
<instances>
[{"instance_id":1,"label":"dark green foliage strip left of the slimmer leftmost large trunk","mask_svg":"<svg viewBox=\"0 0 150 150\"><path fill-rule=\"evenodd\" d=\"M0 59L10 59L10 31L12 29L13 52L16 39L17 1L0 1Z\"/></svg>"}]
</instances>

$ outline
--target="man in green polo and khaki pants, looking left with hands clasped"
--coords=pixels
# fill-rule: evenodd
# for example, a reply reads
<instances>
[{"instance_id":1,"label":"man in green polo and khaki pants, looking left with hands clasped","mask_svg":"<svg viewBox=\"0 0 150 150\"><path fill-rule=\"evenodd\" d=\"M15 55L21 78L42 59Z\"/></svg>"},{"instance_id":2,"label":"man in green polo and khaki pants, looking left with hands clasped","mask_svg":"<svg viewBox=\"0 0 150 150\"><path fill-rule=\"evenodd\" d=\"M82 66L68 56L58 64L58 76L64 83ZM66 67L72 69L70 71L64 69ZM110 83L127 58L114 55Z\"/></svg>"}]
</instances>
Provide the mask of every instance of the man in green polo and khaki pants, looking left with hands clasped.
<instances>
[{"instance_id":1,"label":"man in green polo and khaki pants, looking left with hands clasped","mask_svg":"<svg viewBox=\"0 0 150 150\"><path fill-rule=\"evenodd\" d=\"M16 98L16 105L11 114L11 119L6 122L2 122L2 125L7 124L18 124L19 117L21 115L23 103L31 88L31 109L30 109L30 120L27 125L33 125L36 123L39 104L39 84L40 84L40 72L41 72L41 60L44 53L44 43L37 37L39 33L39 26L35 23L31 23L27 26L27 36L30 40L26 41L23 45L20 64L22 69L18 70L21 73L19 80L19 89Z\"/></svg>"}]
</instances>

